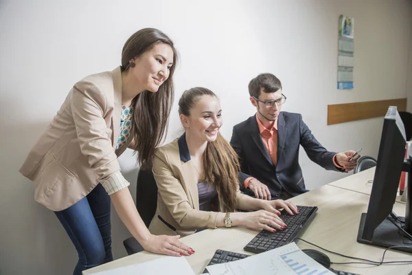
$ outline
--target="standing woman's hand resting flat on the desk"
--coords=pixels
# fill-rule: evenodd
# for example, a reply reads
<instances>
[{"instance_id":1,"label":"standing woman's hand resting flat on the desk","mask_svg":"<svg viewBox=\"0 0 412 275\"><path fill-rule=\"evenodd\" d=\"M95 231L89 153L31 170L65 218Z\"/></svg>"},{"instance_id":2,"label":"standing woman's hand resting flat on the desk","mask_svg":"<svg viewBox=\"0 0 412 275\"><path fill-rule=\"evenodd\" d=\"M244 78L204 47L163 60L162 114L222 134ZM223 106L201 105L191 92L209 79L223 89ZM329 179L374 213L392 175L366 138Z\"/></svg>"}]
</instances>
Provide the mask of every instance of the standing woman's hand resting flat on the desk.
<instances>
[{"instance_id":1,"label":"standing woman's hand resting flat on the desk","mask_svg":"<svg viewBox=\"0 0 412 275\"><path fill-rule=\"evenodd\" d=\"M188 247L178 239L177 236L166 236L166 235L153 235L149 236L149 239L143 241L141 246L144 250L157 254L165 254L170 256L190 256L194 253L192 248Z\"/></svg>"}]
</instances>

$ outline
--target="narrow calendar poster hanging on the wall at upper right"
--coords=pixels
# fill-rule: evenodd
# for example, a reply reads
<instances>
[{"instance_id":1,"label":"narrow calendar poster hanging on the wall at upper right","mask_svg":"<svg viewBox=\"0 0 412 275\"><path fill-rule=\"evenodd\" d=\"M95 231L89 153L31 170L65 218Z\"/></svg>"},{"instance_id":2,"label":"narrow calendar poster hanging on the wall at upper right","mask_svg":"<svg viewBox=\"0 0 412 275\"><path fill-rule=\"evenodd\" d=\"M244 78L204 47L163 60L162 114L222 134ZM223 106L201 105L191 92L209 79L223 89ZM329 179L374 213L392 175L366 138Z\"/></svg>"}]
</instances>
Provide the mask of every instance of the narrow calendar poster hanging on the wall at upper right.
<instances>
[{"instance_id":1,"label":"narrow calendar poster hanging on the wall at upper right","mask_svg":"<svg viewBox=\"0 0 412 275\"><path fill-rule=\"evenodd\" d=\"M353 17L339 17L338 89L354 88L354 25Z\"/></svg>"}]
</instances>

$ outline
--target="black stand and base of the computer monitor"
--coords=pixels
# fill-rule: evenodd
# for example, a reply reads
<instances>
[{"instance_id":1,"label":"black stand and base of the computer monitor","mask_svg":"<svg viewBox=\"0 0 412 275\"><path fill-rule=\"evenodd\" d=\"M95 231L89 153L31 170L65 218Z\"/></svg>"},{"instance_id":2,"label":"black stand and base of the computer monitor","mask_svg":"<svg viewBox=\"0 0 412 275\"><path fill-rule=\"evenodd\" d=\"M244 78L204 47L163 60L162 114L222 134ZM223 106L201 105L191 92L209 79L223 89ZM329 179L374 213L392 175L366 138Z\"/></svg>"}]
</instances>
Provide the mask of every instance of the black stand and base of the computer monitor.
<instances>
[{"instance_id":1,"label":"black stand and base of the computer monitor","mask_svg":"<svg viewBox=\"0 0 412 275\"><path fill-rule=\"evenodd\" d=\"M404 223L396 221L396 224L407 231L409 234L412 232L412 220L411 220L411 195L412 195L412 159L404 160L404 167L402 171L408 173L408 186L407 186L407 204L406 215L400 217ZM366 213L362 213L361 223L358 229L358 243L367 243L370 245L378 245L384 248L389 248L395 245L408 245L409 248L393 248L394 250L400 250L404 252L412 253L412 240L404 236L404 233L399 230L388 218L382 221L380 225L375 229L374 236L371 241L362 238L363 228L365 227Z\"/></svg>"}]
</instances>

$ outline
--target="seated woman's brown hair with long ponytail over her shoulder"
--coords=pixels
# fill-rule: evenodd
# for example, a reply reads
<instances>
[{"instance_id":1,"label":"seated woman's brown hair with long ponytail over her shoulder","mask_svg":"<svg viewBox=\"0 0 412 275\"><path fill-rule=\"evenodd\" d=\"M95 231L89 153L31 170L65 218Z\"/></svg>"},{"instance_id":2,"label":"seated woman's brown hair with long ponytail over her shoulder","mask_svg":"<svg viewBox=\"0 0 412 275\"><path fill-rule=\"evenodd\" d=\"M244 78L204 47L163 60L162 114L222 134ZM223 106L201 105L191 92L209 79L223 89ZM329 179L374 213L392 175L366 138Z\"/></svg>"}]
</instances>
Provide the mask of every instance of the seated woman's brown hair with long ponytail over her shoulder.
<instances>
[{"instance_id":1,"label":"seated woman's brown hair with long ponytail over her shoulder","mask_svg":"<svg viewBox=\"0 0 412 275\"><path fill-rule=\"evenodd\" d=\"M179 114L190 116L190 110L200 96L217 98L213 91L203 87L188 89L179 100ZM205 180L215 186L225 211L233 212L236 209L239 169L238 155L218 133L214 142L207 143L203 154L203 171Z\"/></svg>"}]
</instances>

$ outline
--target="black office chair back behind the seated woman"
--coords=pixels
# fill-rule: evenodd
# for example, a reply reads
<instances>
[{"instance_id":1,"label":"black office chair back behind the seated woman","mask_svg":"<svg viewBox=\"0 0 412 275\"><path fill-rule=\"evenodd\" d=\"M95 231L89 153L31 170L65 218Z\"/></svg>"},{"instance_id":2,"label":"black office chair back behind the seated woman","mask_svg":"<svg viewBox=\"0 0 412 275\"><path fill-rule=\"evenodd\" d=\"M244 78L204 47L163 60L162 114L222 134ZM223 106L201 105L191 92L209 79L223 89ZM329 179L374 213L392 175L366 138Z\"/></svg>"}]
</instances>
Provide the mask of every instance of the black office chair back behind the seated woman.
<instances>
[{"instance_id":1,"label":"black office chair back behind the seated woman","mask_svg":"<svg viewBox=\"0 0 412 275\"><path fill-rule=\"evenodd\" d=\"M137 175L136 208L144 224L149 227L157 208L157 185L151 166L141 166ZM143 247L132 236L123 241L127 254L143 251Z\"/></svg>"}]
</instances>

